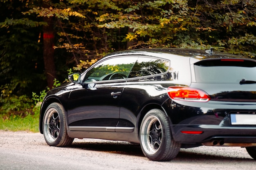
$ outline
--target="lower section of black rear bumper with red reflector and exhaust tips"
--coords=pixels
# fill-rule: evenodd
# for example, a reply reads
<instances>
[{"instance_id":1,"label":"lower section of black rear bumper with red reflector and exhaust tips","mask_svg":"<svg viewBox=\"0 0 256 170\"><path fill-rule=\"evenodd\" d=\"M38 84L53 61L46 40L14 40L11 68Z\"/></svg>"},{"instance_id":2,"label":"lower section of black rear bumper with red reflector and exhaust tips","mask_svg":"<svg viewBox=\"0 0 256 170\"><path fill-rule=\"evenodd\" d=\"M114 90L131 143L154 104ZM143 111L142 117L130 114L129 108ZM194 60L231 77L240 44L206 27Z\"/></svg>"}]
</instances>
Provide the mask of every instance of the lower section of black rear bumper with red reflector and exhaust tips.
<instances>
[{"instance_id":1,"label":"lower section of black rear bumper with red reflector and exhaust tips","mask_svg":"<svg viewBox=\"0 0 256 170\"><path fill-rule=\"evenodd\" d=\"M202 134L186 134L182 131L202 131ZM256 146L256 127L221 127L218 125L177 125L173 138L182 144L206 146Z\"/></svg>"}]
</instances>

